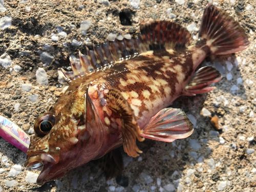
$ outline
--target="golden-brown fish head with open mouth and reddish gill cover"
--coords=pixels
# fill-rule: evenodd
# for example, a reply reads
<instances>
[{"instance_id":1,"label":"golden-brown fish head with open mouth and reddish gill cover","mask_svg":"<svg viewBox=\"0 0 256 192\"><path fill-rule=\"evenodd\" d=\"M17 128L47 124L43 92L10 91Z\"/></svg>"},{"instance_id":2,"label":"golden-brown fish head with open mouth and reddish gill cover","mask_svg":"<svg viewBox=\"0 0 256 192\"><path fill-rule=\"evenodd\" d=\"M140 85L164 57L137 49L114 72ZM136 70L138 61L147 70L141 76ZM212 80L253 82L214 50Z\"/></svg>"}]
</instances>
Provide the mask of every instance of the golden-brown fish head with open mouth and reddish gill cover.
<instances>
[{"instance_id":1,"label":"golden-brown fish head with open mouth and reddish gill cover","mask_svg":"<svg viewBox=\"0 0 256 192\"><path fill-rule=\"evenodd\" d=\"M99 155L102 130L86 123L91 122L88 113L92 109L86 108L84 95L81 89L67 90L48 113L35 120L25 166L42 167L37 184L57 179Z\"/></svg>"}]
</instances>

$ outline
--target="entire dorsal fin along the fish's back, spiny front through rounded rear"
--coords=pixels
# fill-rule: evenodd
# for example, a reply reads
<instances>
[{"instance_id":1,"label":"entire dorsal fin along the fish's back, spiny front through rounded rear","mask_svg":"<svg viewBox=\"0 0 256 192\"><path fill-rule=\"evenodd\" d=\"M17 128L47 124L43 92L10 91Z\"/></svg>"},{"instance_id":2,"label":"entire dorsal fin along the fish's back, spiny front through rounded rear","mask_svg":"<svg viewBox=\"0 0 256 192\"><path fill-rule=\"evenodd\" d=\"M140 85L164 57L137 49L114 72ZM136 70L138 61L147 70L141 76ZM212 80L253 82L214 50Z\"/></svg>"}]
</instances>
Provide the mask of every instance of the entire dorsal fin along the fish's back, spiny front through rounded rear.
<instances>
[{"instance_id":1,"label":"entire dorsal fin along the fish's back, spiny front through rounded rear","mask_svg":"<svg viewBox=\"0 0 256 192\"><path fill-rule=\"evenodd\" d=\"M118 35L114 41L107 40L103 44L93 45L91 49L86 47L87 54L79 52L79 59L70 57L72 72L60 69L65 80L71 82L146 51L184 50L191 39L185 28L168 21L142 22L140 32L136 37L131 37L130 34Z\"/></svg>"}]
</instances>

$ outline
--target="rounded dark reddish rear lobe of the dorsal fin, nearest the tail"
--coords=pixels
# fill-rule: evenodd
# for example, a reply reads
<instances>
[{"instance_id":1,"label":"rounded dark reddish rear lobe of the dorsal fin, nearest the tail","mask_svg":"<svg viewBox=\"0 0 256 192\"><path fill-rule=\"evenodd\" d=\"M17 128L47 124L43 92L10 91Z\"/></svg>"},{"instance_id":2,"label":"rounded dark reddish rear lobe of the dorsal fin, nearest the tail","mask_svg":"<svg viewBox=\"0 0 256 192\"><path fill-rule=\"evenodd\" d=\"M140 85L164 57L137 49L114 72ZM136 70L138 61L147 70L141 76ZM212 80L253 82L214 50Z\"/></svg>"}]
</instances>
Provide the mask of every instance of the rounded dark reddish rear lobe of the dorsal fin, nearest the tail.
<instances>
[{"instance_id":1,"label":"rounded dark reddish rear lobe of the dorsal fin, nearest the tail","mask_svg":"<svg viewBox=\"0 0 256 192\"><path fill-rule=\"evenodd\" d=\"M179 24L166 20L146 20L140 24L141 47L144 50L184 50L191 41L190 33Z\"/></svg>"}]
</instances>

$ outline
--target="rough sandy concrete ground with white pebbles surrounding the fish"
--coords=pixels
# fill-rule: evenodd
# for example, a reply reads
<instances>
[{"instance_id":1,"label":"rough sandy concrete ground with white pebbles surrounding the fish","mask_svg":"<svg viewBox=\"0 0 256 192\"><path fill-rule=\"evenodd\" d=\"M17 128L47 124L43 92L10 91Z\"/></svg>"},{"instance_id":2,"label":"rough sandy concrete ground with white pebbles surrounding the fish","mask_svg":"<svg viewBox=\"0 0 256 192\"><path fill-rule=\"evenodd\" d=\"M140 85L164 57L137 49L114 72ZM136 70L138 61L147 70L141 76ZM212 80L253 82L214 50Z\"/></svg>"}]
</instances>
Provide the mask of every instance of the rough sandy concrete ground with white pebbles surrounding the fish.
<instances>
[{"instance_id":1,"label":"rough sandy concrete ground with white pebbles surrounding the fish","mask_svg":"<svg viewBox=\"0 0 256 192\"><path fill-rule=\"evenodd\" d=\"M57 69L69 66L70 55L84 52L90 41L104 41L111 32L138 32L145 18L173 20L197 35L207 3L1 0L0 19L5 18L0 22L0 62L7 66L0 65L0 115L33 134L35 118L47 111L67 86L58 82ZM16 171L17 175L10 177L13 165L23 165L26 155L0 139L0 191L255 191L256 4L248 0L214 4L239 21L251 43L236 55L206 59L204 64L214 65L223 75L216 90L181 97L174 103L194 121L191 137L173 143L139 143L143 154L135 159L123 154L125 169L117 181L106 181L97 163L91 162L43 186L34 184L34 175L23 166L19 174ZM83 20L91 22L86 32L80 30ZM38 68L46 71L47 86L37 82ZM218 116L222 131L216 131L210 119L200 115L202 108Z\"/></svg>"}]
</instances>

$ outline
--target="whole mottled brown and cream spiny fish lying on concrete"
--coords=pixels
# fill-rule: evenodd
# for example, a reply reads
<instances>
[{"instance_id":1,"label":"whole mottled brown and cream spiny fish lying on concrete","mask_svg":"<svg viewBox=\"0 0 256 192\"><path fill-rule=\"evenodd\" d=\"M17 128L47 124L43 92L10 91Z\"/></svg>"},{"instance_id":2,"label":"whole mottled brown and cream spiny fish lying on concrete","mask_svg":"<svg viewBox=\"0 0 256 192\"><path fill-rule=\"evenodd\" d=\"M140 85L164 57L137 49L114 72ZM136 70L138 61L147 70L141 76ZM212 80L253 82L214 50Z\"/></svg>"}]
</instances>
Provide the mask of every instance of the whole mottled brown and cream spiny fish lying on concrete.
<instances>
[{"instance_id":1,"label":"whole mottled brown and cream spiny fish lying on concrete","mask_svg":"<svg viewBox=\"0 0 256 192\"><path fill-rule=\"evenodd\" d=\"M209 55L242 51L249 41L238 22L208 4L199 38L190 42L179 24L144 20L139 34L118 35L72 57L72 71L61 69L68 89L34 123L25 165L42 164L37 184L101 157L107 172L119 173L118 147L137 157L142 153L137 142L173 142L193 134L185 112L170 104L215 89L211 84L221 74L200 63Z\"/></svg>"}]
</instances>

